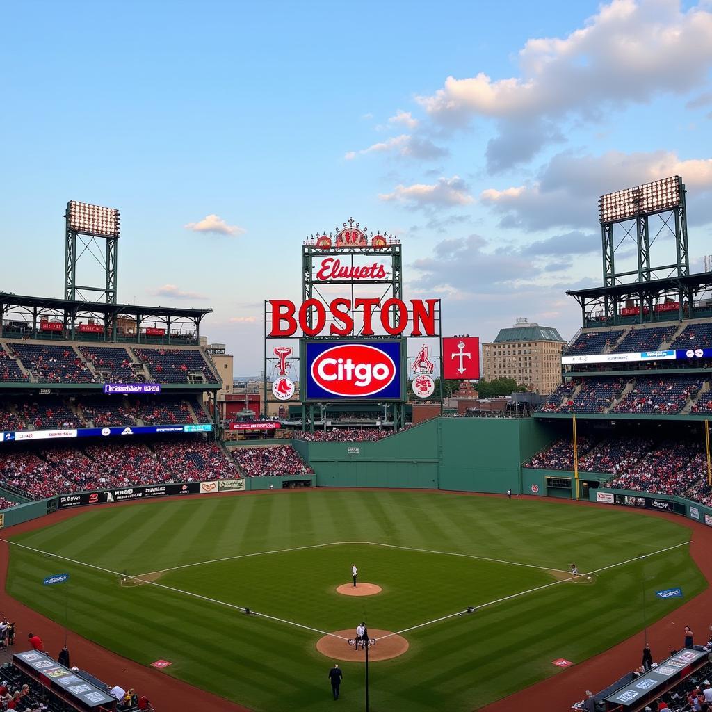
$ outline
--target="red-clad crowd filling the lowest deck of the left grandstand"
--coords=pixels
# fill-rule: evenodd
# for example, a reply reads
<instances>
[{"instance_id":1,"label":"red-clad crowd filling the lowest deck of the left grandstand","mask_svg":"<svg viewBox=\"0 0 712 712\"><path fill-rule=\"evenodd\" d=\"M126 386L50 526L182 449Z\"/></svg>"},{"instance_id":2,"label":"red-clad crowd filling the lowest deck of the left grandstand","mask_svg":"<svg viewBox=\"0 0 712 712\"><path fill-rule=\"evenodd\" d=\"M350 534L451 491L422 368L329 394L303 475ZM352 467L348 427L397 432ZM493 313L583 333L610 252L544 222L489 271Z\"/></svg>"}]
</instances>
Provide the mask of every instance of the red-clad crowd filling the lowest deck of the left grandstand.
<instances>
[{"instance_id":1,"label":"red-clad crowd filling the lowest deck of the left grandstand","mask_svg":"<svg viewBox=\"0 0 712 712\"><path fill-rule=\"evenodd\" d=\"M225 452L200 436L150 444L103 442L83 449L47 444L33 451L8 451L0 458L0 483L31 499L235 476Z\"/></svg>"}]
</instances>

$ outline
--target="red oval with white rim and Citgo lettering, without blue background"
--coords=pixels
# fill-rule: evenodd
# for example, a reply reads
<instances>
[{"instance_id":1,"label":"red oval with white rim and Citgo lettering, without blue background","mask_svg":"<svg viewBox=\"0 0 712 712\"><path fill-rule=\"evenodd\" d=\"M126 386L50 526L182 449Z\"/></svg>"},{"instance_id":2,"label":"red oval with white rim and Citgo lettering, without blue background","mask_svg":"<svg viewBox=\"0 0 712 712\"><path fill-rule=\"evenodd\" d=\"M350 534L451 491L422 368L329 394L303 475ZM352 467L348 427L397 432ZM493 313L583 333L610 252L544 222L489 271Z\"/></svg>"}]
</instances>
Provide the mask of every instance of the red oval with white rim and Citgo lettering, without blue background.
<instances>
[{"instance_id":1,"label":"red oval with white rim and Citgo lettering, without blue background","mask_svg":"<svg viewBox=\"0 0 712 712\"><path fill-rule=\"evenodd\" d=\"M311 366L314 382L329 393L345 397L372 396L396 377L393 359L367 344L341 344L325 350Z\"/></svg>"}]
</instances>

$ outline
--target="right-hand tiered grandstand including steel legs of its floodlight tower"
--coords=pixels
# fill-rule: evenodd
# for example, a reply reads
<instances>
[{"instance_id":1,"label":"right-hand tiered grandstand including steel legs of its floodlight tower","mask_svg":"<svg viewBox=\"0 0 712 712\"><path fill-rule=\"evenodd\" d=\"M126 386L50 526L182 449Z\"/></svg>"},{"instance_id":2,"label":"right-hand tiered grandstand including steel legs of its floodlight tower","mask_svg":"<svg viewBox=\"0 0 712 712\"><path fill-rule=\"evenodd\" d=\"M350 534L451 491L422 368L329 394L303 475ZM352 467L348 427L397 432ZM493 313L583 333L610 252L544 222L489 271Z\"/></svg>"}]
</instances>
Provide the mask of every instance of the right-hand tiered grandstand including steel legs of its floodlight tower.
<instances>
[{"instance_id":1,"label":"right-hand tiered grandstand including steel legs of its floodlight tower","mask_svg":"<svg viewBox=\"0 0 712 712\"><path fill-rule=\"evenodd\" d=\"M654 213L602 212L604 284L567 292L582 327L562 355L562 385L535 414L550 444L523 464L548 472L548 493L555 480L559 495L568 483L580 488L574 496L607 488L711 503L703 420L712 413L712 273L690 273L684 202L675 211L661 229L673 233L678 259L661 267L645 242ZM625 220L642 236L639 268L617 273L612 231Z\"/></svg>"}]
</instances>

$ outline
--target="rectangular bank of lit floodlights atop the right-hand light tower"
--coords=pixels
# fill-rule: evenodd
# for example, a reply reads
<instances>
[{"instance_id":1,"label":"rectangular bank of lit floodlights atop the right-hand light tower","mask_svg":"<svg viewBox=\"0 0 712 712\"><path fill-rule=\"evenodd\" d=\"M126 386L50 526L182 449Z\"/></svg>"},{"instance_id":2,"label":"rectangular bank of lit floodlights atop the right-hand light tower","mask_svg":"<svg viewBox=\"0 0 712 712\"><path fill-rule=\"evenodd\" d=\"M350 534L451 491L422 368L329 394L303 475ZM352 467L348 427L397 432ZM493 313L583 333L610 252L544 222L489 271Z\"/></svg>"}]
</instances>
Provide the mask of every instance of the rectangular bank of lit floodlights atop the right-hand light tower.
<instances>
[{"instance_id":1,"label":"rectangular bank of lit floodlights atop the right-hand light tower","mask_svg":"<svg viewBox=\"0 0 712 712\"><path fill-rule=\"evenodd\" d=\"M681 206L684 187L679 176L607 193L598 199L600 223L628 220Z\"/></svg>"}]
</instances>

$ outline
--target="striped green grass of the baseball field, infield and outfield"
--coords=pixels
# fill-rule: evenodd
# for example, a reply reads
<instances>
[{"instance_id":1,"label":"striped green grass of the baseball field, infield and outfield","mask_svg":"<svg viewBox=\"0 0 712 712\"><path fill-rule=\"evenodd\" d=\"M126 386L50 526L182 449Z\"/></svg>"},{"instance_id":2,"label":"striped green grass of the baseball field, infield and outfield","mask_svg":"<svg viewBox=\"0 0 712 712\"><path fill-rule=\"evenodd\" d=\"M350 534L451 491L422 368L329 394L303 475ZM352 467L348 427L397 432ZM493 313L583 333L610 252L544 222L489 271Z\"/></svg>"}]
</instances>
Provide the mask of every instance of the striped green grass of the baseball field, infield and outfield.
<instances>
[{"instance_id":1,"label":"striped green grass of the baseball field, infield and outfield","mask_svg":"<svg viewBox=\"0 0 712 712\"><path fill-rule=\"evenodd\" d=\"M407 653L371 668L375 712L464 712L557 674L554 659L580 662L641 630L643 589L649 623L684 602L656 590L701 592L706 582L687 546L636 558L688 539L667 520L555 501L325 490L211 496L88 510L16 536L99 568L13 547L8 580L11 595L58 622L67 599L68 626L83 636L142 664L172 661L167 674L269 712L332 709L331 663L315 649L318 632L232 606L320 631L365 616L394 632L481 607L406 632ZM549 569L572 561L588 572L629 559L591 583L550 585ZM353 562L382 594L335 592ZM101 569L162 571L161 587L122 587ZM58 572L70 573L68 596L42 585ZM362 665L342 668L338 705L361 710Z\"/></svg>"}]
</instances>

